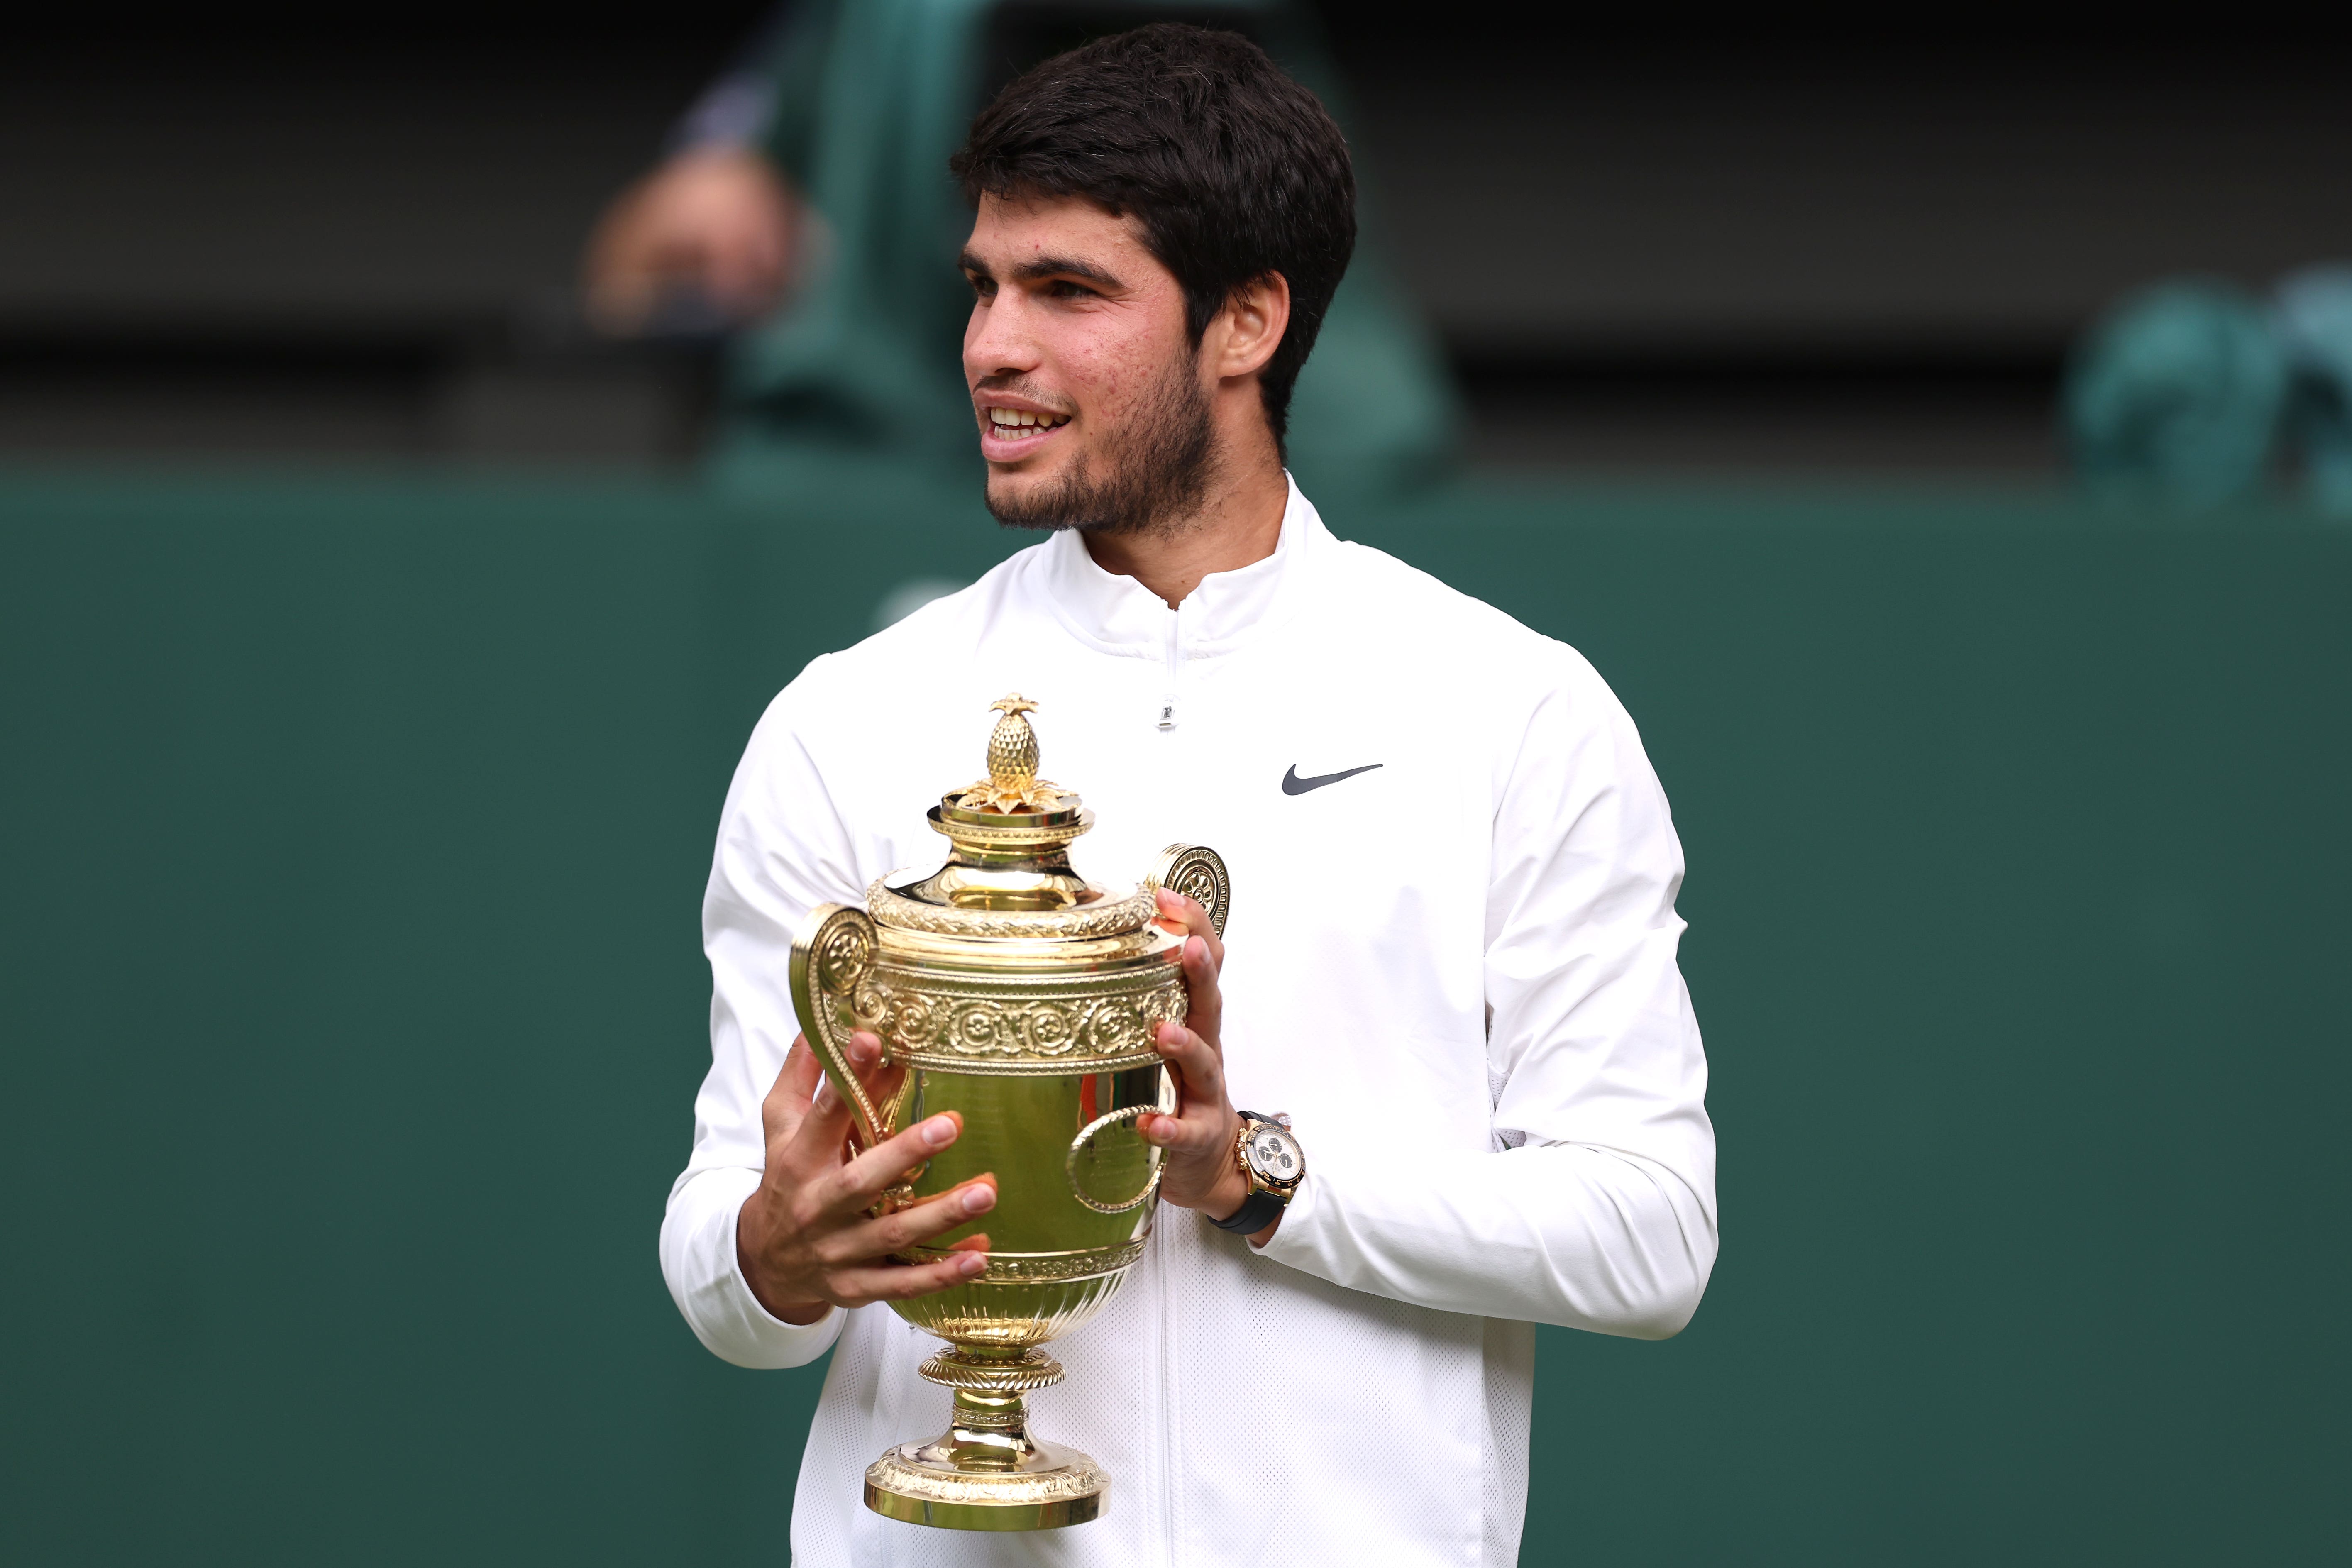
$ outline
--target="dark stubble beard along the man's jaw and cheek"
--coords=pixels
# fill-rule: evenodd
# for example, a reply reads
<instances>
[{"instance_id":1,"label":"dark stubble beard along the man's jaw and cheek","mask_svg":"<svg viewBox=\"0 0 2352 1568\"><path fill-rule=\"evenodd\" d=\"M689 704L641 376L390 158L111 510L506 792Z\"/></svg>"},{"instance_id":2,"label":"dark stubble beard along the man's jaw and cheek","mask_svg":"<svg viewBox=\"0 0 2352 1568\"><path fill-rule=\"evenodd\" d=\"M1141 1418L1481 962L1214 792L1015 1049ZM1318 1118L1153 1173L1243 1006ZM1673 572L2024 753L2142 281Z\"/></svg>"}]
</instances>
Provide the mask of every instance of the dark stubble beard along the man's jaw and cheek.
<instances>
[{"instance_id":1,"label":"dark stubble beard along the man's jaw and cheek","mask_svg":"<svg viewBox=\"0 0 2352 1568\"><path fill-rule=\"evenodd\" d=\"M1216 425L1190 355L1136 407L1127 435L1096 461L1073 463L1058 480L997 498L990 515L1009 529L1084 529L1089 534L1181 534L1200 515L1216 475Z\"/></svg>"}]
</instances>

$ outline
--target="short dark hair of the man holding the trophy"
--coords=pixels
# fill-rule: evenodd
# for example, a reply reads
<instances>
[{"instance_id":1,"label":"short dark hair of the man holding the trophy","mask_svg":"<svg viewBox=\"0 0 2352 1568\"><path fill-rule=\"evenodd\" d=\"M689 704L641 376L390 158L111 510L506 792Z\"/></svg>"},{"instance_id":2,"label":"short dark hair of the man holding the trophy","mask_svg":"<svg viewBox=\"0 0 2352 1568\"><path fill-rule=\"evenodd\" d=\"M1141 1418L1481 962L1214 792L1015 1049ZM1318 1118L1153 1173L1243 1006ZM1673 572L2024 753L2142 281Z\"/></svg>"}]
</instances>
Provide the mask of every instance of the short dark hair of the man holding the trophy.
<instances>
[{"instance_id":1,"label":"short dark hair of the man holding the trophy","mask_svg":"<svg viewBox=\"0 0 2352 1568\"><path fill-rule=\"evenodd\" d=\"M1322 99L1240 33L1155 24L1058 54L971 122L964 200L1077 195L1134 216L1176 275L1192 343L1282 273L1291 324L1258 378L1282 442L1291 386L1355 254L1355 169Z\"/></svg>"}]
</instances>

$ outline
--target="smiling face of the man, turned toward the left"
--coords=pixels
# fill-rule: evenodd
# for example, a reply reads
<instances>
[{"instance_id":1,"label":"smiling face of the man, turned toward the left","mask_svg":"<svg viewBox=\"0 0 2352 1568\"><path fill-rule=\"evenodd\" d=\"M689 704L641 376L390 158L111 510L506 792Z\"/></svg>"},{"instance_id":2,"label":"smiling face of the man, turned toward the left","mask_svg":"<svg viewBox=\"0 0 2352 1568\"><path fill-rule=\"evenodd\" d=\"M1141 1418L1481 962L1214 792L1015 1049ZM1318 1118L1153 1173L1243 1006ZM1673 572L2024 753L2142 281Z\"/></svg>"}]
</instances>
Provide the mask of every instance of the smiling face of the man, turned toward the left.
<instances>
[{"instance_id":1,"label":"smiling face of the man, turned toward the left","mask_svg":"<svg viewBox=\"0 0 2352 1568\"><path fill-rule=\"evenodd\" d=\"M1129 219L1077 197L981 197L964 383L988 510L1030 529L1143 531L1202 498L1216 456L1183 289Z\"/></svg>"}]
</instances>

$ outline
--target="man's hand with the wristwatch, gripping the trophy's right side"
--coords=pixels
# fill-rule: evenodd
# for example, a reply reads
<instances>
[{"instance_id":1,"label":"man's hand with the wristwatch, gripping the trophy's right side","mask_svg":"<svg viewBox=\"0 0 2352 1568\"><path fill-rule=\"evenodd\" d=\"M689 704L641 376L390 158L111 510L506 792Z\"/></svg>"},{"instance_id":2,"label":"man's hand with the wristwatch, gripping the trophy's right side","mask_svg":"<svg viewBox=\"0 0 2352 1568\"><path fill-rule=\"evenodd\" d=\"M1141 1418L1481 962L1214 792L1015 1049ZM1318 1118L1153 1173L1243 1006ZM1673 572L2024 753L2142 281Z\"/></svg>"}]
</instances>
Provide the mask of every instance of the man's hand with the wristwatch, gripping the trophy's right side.
<instances>
[{"instance_id":1,"label":"man's hand with the wristwatch, gripping the trophy's right side","mask_svg":"<svg viewBox=\"0 0 2352 1568\"><path fill-rule=\"evenodd\" d=\"M1183 1023L1164 1023L1157 1032L1160 1058L1176 1072L1176 1114L1136 1117L1136 1131L1167 1150L1160 1197L1225 1220L1249 1199L1249 1182L1232 1161L1242 1117L1225 1095L1225 1048L1218 1044L1225 1001L1216 976L1225 966L1225 943L1216 936L1209 910L1169 889L1160 889L1160 926L1185 938L1183 980L1190 1006ZM1251 1244L1265 1246L1279 1227L1277 1215Z\"/></svg>"}]
</instances>

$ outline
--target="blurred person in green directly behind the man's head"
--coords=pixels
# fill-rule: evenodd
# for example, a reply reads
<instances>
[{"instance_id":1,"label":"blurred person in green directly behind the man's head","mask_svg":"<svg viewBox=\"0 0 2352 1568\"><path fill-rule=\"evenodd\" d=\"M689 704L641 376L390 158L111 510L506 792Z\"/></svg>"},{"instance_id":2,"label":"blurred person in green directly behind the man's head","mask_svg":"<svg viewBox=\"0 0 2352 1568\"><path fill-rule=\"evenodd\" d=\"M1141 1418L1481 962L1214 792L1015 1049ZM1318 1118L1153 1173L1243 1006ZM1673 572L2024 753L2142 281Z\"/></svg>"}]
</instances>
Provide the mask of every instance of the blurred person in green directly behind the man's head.
<instances>
[{"instance_id":1,"label":"blurred person in green directly behind the man's head","mask_svg":"<svg viewBox=\"0 0 2352 1568\"><path fill-rule=\"evenodd\" d=\"M1249 35L1327 101L1336 73L1289 0L783 0L614 200L586 256L609 334L731 334L715 463L849 449L962 468L955 376L969 228L946 160L1033 63L1155 19ZM1291 465L1378 498L1442 475L1456 395L1430 334L1359 247L1291 407Z\"/></svg>"}]
</instances>

